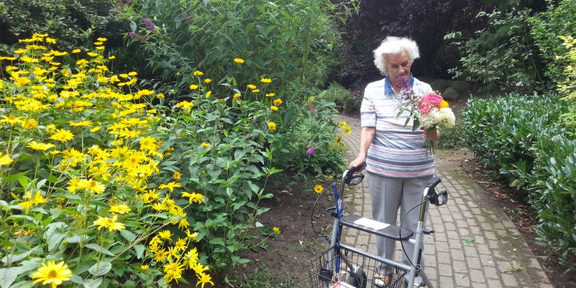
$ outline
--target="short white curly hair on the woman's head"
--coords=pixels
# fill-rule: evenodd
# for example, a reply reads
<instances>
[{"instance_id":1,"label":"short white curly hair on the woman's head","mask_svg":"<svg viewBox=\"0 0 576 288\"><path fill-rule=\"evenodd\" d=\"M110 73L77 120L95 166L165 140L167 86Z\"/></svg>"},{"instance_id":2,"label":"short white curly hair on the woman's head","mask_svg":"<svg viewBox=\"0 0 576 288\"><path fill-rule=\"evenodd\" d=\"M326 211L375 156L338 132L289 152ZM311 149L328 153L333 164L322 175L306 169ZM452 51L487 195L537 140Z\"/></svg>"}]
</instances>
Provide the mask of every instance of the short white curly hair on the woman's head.
<instances>
[{"instance_id":1,"label":"short white curly hair on the woman's head","mask_svg":"<svg viewBox=\"0 0 576 288\"><path fill-rule=\"evenodd\" d=\"M420 57L418 45L412 39L388 36L380 43L380 46L374 50L374 64L382 74L386 74L387 63L384 55L398 55L402 51L405 51L408 55L410 64Z\"/></svg>"}]
</instances>

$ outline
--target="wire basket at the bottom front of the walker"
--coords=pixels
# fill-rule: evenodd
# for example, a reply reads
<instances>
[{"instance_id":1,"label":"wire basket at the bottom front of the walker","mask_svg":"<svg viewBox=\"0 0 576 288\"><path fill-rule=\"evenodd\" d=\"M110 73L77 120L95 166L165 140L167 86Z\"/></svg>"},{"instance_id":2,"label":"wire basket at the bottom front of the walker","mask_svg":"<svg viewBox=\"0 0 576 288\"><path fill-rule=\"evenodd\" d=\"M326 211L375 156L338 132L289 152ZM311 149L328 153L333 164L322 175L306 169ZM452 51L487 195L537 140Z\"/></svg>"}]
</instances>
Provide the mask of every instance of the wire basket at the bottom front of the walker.
<instances>
[{"instance_id":1,"label":"wire basket at the bottom front of the walker","mask_svg":"<svg viewBox=\"0 0 576 288\"><path fill-rule=\"evenodd\" d=\"M336 254L340 251L340 271L336 271ZM329 256L333 261L329 265ZM404 282L405 271L396 266L383 264L370 257L370 254L361 254L345 247L331 247L322 252L312 263L306 267L310 287L312 288L377 288L374 284L374 275L386 266L392 271L391 283L387 288L406 287Z\"/></svg>"}]
</instances>

